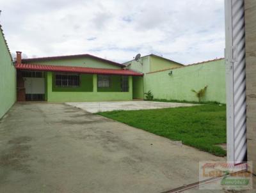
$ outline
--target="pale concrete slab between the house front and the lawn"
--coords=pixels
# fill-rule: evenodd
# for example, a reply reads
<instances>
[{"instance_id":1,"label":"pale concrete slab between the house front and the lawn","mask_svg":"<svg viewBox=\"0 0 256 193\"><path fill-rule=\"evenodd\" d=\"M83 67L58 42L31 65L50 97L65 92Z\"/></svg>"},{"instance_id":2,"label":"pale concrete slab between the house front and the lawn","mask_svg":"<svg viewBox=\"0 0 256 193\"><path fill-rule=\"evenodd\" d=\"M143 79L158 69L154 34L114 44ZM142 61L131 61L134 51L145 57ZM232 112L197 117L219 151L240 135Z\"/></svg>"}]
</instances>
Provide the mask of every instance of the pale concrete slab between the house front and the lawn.
<instances>
[{"instance_id":1,"label":"pale concrete slab between the house front and the lawn","mask_svg":"<svg viewBox=\"0 0 256 193\"><path fill-rule=\"evenodd\" d=\"M190 107L197 104L183 104L175 102L152 102L152 101L122 101L122 102L67 102L66 104L72 105L83 109L88 112L104 112L115 110L141 110L141 109L163 109L174 107Z\"/></svg>"}]
</instances>

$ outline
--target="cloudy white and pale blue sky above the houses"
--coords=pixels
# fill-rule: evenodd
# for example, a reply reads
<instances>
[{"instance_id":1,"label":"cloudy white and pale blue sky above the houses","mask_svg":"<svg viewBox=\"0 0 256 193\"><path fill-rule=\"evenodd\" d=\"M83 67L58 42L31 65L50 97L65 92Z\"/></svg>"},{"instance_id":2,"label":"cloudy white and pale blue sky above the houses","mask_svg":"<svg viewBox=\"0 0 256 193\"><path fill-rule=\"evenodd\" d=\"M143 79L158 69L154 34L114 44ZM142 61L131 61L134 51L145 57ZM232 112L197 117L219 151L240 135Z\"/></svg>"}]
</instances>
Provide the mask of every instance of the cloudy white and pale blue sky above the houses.
<instances>
[{"instance_id":1,"label":"cloudy white and pale blue sky above the houses","mask_svg":"<svg viewBox=\"0 0 256 193\"><path fill-rule=\"evenodd\" d=\"M189 64L223 57L223 0L0 0L11 52L25 57L137 53Z\"/></svg>"}]
</instances>

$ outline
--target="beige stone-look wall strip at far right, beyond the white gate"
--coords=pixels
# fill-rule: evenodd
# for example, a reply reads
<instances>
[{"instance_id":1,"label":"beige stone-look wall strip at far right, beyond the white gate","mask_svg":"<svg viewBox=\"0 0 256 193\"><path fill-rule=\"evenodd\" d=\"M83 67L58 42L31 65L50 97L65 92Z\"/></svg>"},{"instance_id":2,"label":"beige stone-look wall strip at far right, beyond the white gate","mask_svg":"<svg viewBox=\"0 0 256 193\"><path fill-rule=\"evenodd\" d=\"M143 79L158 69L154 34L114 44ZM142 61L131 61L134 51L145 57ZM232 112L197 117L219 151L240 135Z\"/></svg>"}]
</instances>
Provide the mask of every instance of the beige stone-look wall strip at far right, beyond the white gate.
<instances>
[{"instance_id":1,"label":"beige stone-look wall strip at far right, beyond the white gate","mask_svg":"<svg viewBox=\"0 0 256 193\"><path fill-rule=\"evenodd\" d=\"M256 1L245 0L247 159L256 174Z\"/></svg>"}]
</instances>

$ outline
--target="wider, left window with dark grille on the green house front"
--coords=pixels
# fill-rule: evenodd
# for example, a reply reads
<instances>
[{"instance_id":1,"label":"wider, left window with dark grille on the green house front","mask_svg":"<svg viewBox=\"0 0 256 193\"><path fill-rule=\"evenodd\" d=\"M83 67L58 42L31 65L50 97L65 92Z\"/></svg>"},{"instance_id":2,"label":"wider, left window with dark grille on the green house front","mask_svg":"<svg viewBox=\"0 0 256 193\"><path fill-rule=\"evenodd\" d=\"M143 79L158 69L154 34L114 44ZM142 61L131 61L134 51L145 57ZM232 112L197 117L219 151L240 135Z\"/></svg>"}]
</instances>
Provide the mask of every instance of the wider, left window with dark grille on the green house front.
<instances>
[{"instance_id":1,"label":"wider, left window with dark grille on the green house front","mask_svg":"<svg viewBox=\"0 0 256 193\"><path fill-rule=\"evenodd\" d=\"M79 75L77 74L56 74L55 85L58 87L77 87L79 86Z\"/></svg>"}]
</instances>

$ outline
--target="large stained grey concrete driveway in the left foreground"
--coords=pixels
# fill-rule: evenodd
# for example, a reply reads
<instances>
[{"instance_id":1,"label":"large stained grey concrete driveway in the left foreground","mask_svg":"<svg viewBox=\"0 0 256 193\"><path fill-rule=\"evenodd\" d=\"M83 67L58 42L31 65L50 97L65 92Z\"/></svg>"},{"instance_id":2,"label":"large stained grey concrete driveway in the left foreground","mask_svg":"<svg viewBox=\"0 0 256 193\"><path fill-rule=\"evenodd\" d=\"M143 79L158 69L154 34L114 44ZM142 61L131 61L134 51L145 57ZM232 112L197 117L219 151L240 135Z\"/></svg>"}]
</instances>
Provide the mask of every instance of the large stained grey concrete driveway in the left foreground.
<instances>
[{"instance_id":1,"label":"large stained grey concrete driveway in the left foreground","mask_svg":"<svg viewBox=\"0 0 256 193\"><path fill-rule=\"evenodd\" d=\"M65 104L15 104L0 122L0 192L163 192L225 160Z\"/></svg>"}]
</instances>

